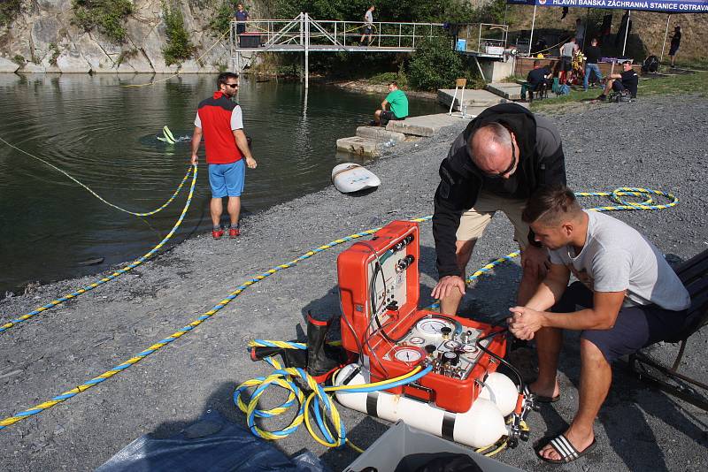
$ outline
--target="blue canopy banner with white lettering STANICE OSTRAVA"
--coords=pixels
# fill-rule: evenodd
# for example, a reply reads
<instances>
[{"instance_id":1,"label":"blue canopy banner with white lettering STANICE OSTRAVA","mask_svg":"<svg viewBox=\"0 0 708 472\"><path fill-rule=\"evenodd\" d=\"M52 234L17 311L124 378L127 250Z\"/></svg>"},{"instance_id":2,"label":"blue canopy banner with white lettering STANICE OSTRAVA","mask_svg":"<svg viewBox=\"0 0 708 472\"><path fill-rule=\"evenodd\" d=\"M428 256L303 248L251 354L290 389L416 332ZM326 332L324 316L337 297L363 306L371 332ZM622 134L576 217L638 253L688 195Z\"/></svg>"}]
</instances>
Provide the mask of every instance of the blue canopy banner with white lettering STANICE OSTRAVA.
<instances>
[{"instance_id":1,"label":"blue canopy banner with white lettering STANICE OSTRAVA","mask_svg":"<svg viewBox=\"0 0 708 472\"><path fill-rule=\"evenodd\" d=\"M708 0L506 0L506 3L515 5L660 11L662 13L708 13Z\"/></svg>"}]
</instances>

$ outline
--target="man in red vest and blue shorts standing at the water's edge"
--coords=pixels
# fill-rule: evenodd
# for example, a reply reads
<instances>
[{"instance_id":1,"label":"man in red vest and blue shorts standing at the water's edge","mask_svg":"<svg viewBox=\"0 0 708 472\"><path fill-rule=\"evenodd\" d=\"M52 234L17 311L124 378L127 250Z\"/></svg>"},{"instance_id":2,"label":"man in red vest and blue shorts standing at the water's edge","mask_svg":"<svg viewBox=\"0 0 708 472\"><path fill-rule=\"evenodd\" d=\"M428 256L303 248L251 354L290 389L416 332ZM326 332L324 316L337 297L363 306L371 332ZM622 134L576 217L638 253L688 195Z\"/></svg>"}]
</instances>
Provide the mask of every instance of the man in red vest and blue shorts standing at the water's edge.
<instances>
[{"instance_id":1,"label":"man in red vest and blue shorts standing at the water's edge","mask_svg":"<svg viewBox=\"0 0 708 472\"><path fill-rule=\"evenodd\" d=\"M229 238L240 234L238 217L241 213L241 194L246 168L256 168L256 160L250 155L250 148L243 133L243 115L241 107L232 98L238 92L238 74L219 73L219 90L210 98L199 103L194 120L192 136L192 164L199 159L196 152L204 136L206 164L209 164L209 184L212 186L212 236L219 240L224 235L220 219L223 213L222 199L228 196L228 216L231 225ZM245 164L243 158L245 157Z\"/></svg>"}]
</instances>

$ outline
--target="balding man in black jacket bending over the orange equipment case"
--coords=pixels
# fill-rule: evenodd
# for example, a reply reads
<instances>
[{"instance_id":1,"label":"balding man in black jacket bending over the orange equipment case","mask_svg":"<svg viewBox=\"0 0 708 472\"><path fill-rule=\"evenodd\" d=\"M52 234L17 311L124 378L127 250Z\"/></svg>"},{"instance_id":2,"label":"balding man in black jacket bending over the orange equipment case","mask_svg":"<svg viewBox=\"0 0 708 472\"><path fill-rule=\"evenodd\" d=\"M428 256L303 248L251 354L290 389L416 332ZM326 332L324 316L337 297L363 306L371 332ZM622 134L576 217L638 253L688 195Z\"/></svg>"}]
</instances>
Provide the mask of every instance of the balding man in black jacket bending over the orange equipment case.
<instances>
[{"instance_id":1,"label":"balding man in black jacket bending over the orange equipment case","mask_svg":"<svg viewBox=\"0 0 708 472\"><path fill-rule=\"evenodd\" d=\"M566 164L555 126L515 103L484 110L452 143L440 165L433 236L440 277L433 296L455 315L465 294L474 244L497 210L514 226L523 275L517 303L524 305L546 273L548 254L521 219L526 200L544 185L566 184Z\"/></svg>"}]
</instances>

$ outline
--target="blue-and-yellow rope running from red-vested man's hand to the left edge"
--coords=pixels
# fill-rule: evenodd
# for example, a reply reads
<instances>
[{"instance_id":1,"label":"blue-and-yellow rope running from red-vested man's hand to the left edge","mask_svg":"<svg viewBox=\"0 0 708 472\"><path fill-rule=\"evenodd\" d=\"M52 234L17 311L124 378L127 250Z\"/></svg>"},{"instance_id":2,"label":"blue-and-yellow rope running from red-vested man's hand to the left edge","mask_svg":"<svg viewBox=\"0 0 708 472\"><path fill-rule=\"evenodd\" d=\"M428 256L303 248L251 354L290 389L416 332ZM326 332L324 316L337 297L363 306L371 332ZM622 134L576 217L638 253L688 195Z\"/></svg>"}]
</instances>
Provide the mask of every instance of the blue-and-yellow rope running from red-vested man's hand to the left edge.
<instances>
[{"instance_id":1,"label":"blue-and-yellow rope running from red-vested man's hand to the left edge","mask_svg":"<svg viewBox=\"0 0 708 472\"><path fill-rule=\"evenodd\" d=\"M184 216L187 214L187 210L189 209L189 204L192 202L192 195L194 194L194 187L195 187L195 185L196 185L196 165L195 165L194 167L189 167L189 170L188 170L187 173L185 174L184 179L182 179L182 182L181 182L181 184L180 184L180 188L178 188L177 191L175 192L175 194L173 195L173 197L174 197L176 194L178 194L178 193L180 192L180 189L181 189L182 185L184 184L185 179L187 179L187 178L189 177L189 173L191 173L192 170L194 170L194 174L193 174L193 176L192 176L192 184L191 184L191 186L189 187L189 194L188 194L188 196L187 196L187 202L185 202L185 204L184 204L184 208L182 209L182 212L181 212L181 214L180 214L180 217L177 218L177 222L173 225L172 230L170 230L170 232L167 233L167 235L165 236L165 238L163 238L163 240L161 240L160 242L158 242L158 244L157 244L155 247L153 247L152 249L150 249L150 251L148 251L148 252L145 253L144 255L140 256L140 257L139 257L138 259L136 259L134 262L127 264L127 266L125 266L125 267L123 267L123 268L121 268L121 269L119 269L119 270L116 270L116 271L113 272L112 274L107 275L107 276L104 277L104 278L99 278L99 279L96 280L95 282L93 282L93 283L91 283L91 284L89 284L89 285L86 285L86 286L84 286L83 288L80 288L80 289L78 289L78 290L75 290L75 291L73 291L72 293L66 293L64 296L59 297L59 298L56 299L56 300L52 300L52 301L50 301L49 303L47 303L47 304L45 304L45 305L42 305L42 306L39 307L39 308L33 309L32 311L30 311L29 313L27 313L27 314L25 314L25 315L18 316L18 317L16 317L15 319L13 319L13 320L11 320L11 321L9 321L9 322L7 322L7 323L5 323L5 324L3 324L3 325L0 325L0 333L9 330L10 328L12 328L12 326L16 326L17 324L20 324L20 323L22 323L23 321L27 321L28 319L32 318L33 316L42 313L42 311L47 311L47 310L50 309L50 308L54 308L54 307L56 307L57 305L59 305L59 304L65 302L65 301L67 301L67 300L73 300L74 298L78 297L79 295L82 295L82 294L84 294L84 293L87 293L87 292L89 292L90 290L93 290L94 288L96 288L96 287L98 287L98 286L104 285L105 283L110 282L110 281L113 280L114 278L118 278L119 276L125 274L126 272L135 269L135 267L141 265L142 263L144 263L145 261L147 261L148 259L150 259L150 257L152 257L153 255L155 255L163 246L165 246L165 243L166 243L168 240L170 240L170 238L173 237L174 232L176 232L176 231L177 231L177 228L180 227L180 225L181 225L181 223L182 223L182 220L184 219ZM171 200L171 201L172 201L172 200ZM113 206L113 205L112 205L112 206ZM166 206L166 203L165 203L165 206ZM158 210L158 211L159 211L159 210ZM156 211L156 212L157 212L157 211ZM134 214L135 214L135 213L134 213Z\"/></svg>"}]
</instances>

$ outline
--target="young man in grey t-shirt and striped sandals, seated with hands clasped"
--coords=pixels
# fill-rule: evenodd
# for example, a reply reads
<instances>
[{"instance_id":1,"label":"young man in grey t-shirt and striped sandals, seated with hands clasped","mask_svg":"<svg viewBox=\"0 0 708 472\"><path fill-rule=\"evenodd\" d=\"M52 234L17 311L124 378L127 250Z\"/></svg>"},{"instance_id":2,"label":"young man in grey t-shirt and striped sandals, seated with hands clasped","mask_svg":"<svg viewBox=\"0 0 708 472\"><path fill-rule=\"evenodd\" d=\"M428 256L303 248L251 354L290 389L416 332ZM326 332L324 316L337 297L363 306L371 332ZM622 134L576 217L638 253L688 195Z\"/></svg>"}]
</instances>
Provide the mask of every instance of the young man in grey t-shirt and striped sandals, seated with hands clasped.
<instances>
[{"instance_id":1,"label":"young man in grey t-shirt and striped sandals, seated with hands clasped","mask_svg":"<svg viewBox=\"0 0 708 472\"><path fill-rule=\"evenodd\" d=\"M562 330L581 331L578 413L537 451L543 461L570 462L595 446L593 423L612 382L610 363L682 331L690 298L657 247L618 219L582 210L567 187L536 192L522 217L550 252L546 278L526 306L510 308L508 320L514 336L536 340L539 372L530 389L539 401L560 396ZM571 274L579 281L568 286Z\"/></svg>"}]
</instances>

